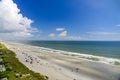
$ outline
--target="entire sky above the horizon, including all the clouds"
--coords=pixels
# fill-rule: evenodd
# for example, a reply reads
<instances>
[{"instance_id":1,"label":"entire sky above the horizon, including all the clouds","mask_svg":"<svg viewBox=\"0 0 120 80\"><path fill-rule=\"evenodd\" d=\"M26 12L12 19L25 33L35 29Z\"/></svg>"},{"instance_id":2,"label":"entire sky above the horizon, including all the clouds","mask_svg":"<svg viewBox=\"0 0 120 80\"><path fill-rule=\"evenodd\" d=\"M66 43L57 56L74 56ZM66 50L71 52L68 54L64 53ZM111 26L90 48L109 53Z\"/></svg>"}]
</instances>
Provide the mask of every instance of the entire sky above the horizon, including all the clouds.
<instances>
[{"instance_id":1,"label":"entire sky above the horizon, including all the clouds","mask_svg":"<svg viewBox=\"0 0 120 80\"><path fill-rule=\"evenodd\" d=\"M120 0L0 0L0 40L120 41Z\"/></svg>"}]
</instances>

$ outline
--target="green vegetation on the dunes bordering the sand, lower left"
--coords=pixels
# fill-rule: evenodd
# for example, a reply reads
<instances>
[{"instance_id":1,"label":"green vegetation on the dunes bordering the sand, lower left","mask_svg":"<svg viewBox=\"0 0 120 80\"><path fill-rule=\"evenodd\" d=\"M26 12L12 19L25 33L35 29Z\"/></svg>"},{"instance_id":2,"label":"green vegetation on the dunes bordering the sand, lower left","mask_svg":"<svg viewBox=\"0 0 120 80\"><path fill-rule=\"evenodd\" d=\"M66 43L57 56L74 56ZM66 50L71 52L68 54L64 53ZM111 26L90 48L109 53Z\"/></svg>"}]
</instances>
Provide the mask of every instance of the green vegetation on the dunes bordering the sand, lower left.
<instances>
[{"instance_id":1,"label":"green vegetation on the dunes bordering the sand, lower left","mask_svg":"<svg viewBox=\"0 0 120 80\"><path fill-rule=\"evenodd\" d=\"M8 80L46 80L45 76L29 70L26 66L18 61L15 53L8 50L0 43L0 58L3 61L0 65L5 65L6 71L0 72L0 80L7 78Z\"/></svg>"}]
</instances>

